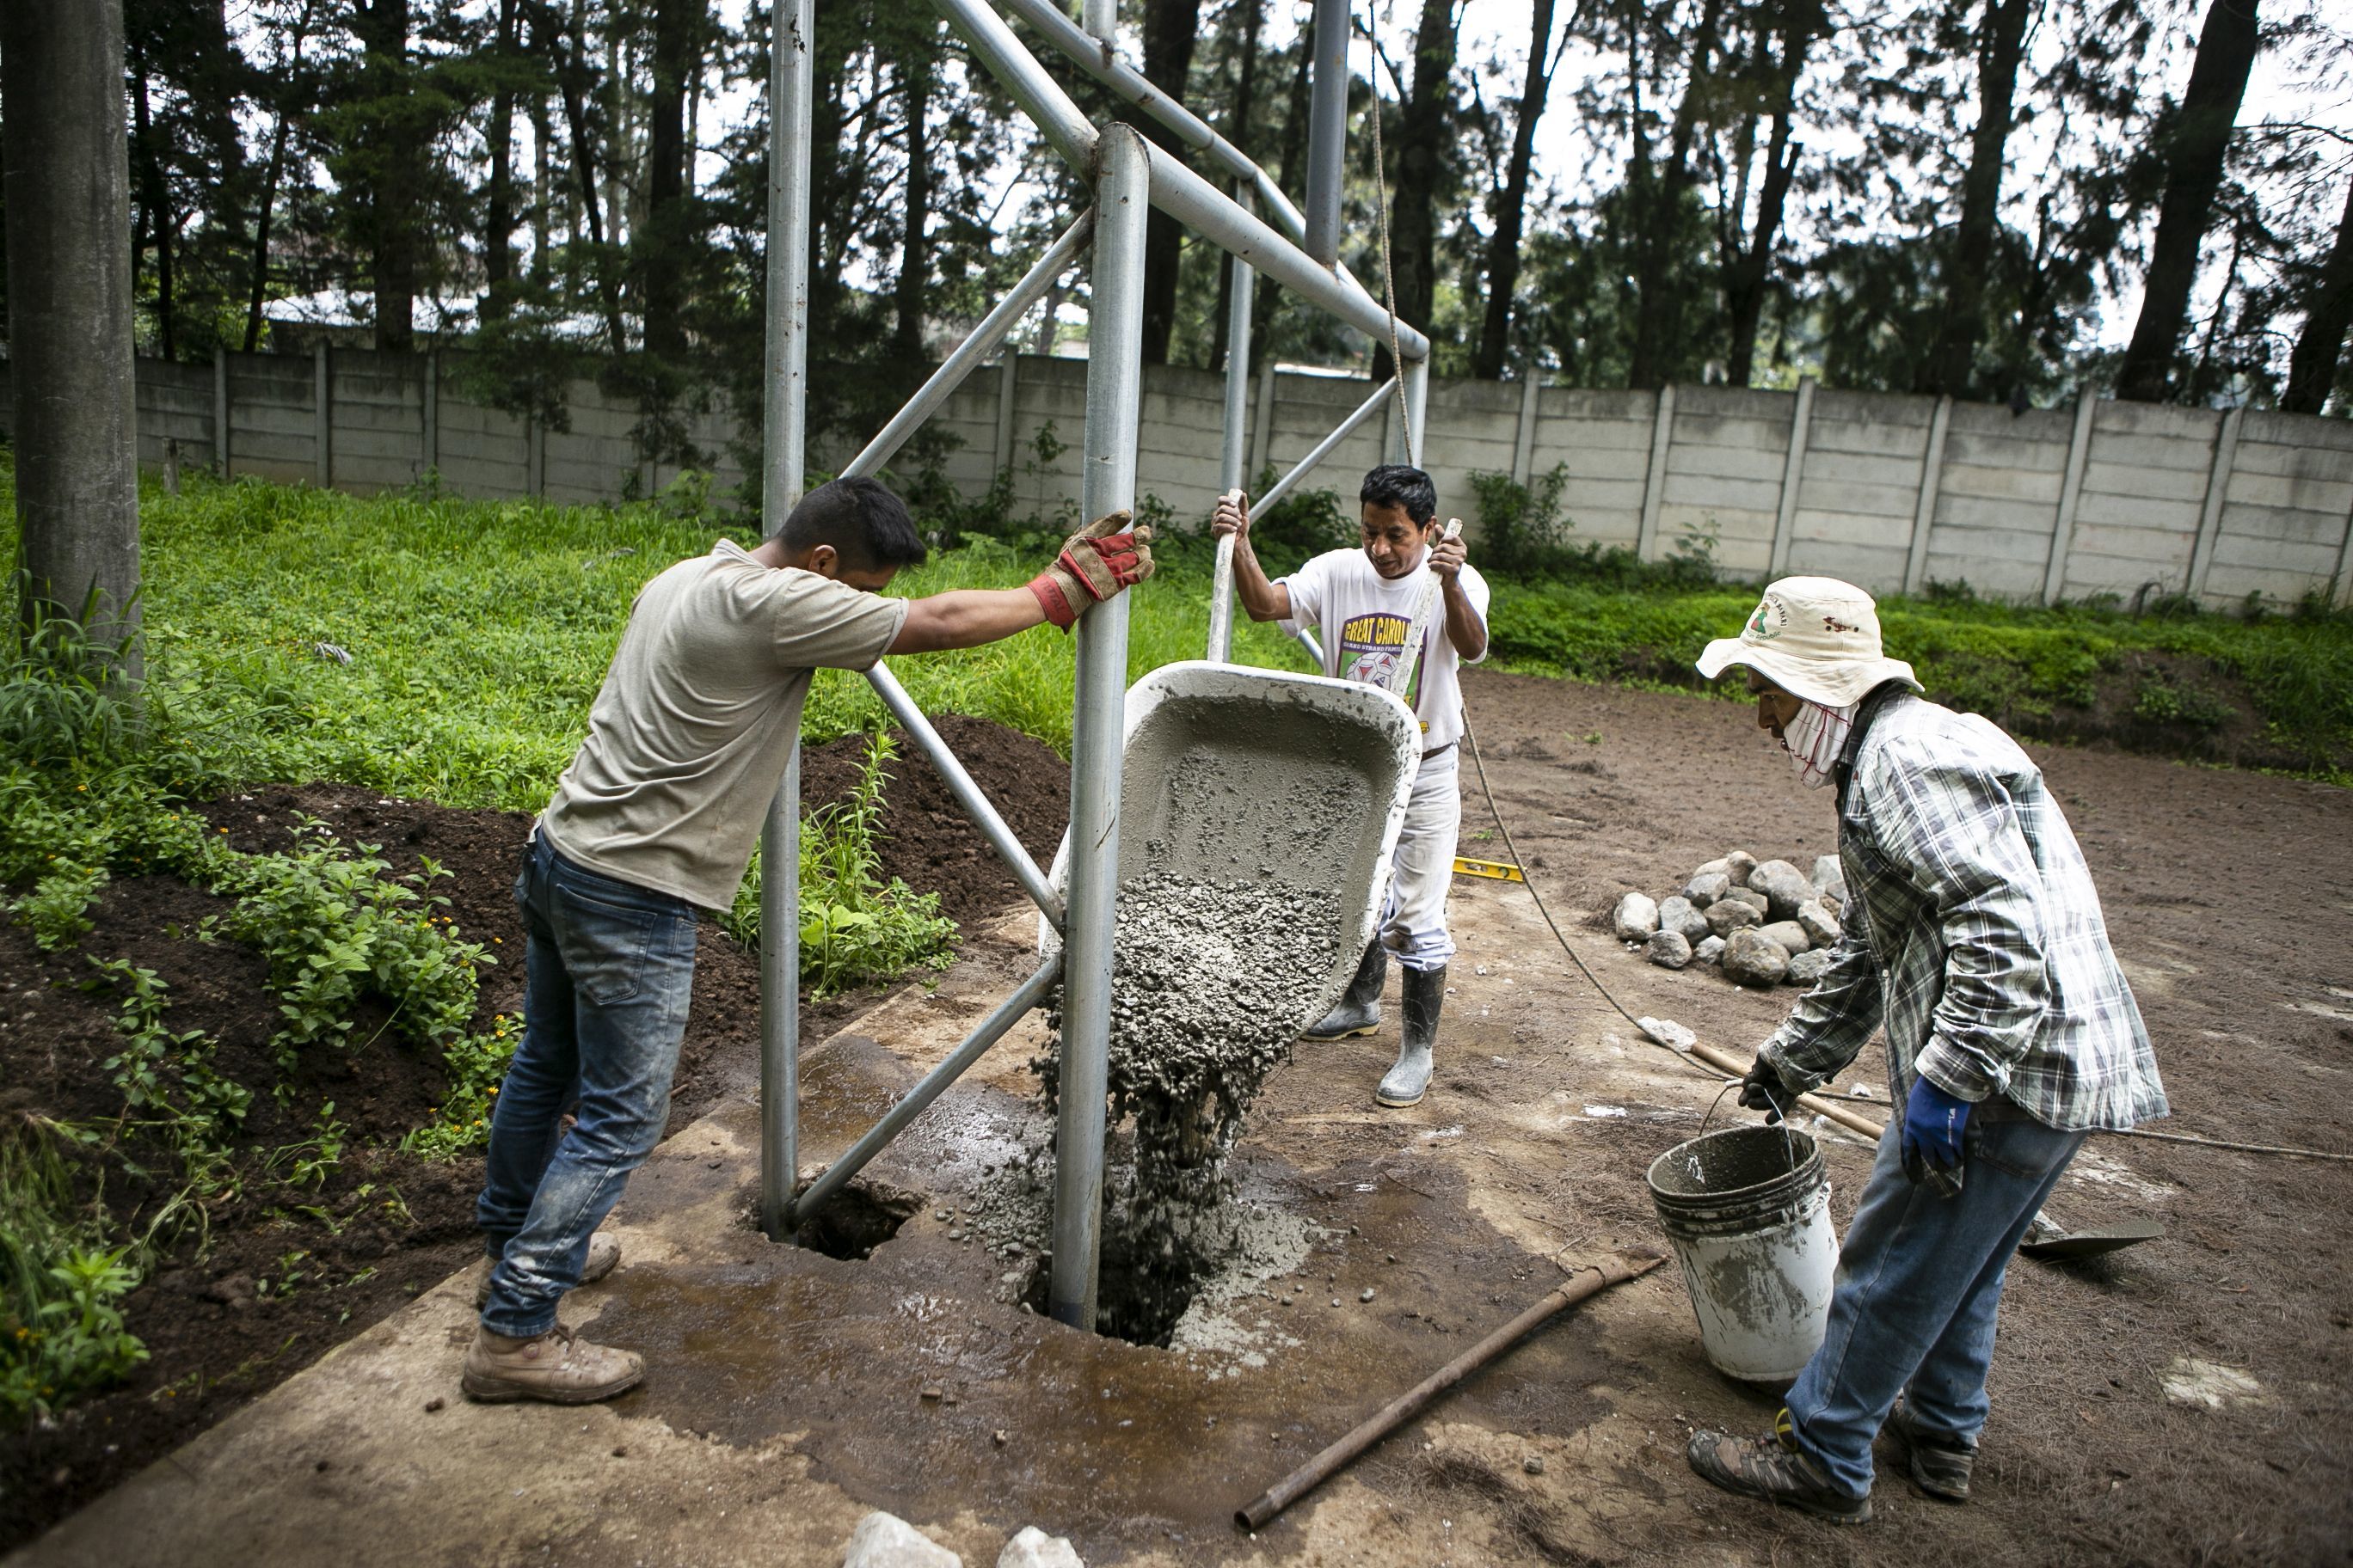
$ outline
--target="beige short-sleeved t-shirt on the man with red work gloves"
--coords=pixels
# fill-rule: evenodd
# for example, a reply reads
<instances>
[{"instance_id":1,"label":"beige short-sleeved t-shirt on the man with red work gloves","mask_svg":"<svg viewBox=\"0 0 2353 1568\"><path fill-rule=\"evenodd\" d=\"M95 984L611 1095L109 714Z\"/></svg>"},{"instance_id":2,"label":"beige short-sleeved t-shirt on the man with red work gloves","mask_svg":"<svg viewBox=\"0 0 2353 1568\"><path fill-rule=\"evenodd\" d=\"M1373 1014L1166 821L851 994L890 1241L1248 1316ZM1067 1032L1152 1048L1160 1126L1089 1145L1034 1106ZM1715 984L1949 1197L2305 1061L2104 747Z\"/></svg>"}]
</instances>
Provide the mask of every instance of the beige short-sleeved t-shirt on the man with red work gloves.
<instances>
[{"instance_id":1,"label":"beige short-sleeved t-shirt on the man with red work gloves","mask_svg":"<svg viewBox=\"0 0 2353 1568\"><path fill-rule=\"evenodd\" d=\"M734 903L812 670L871 670L906 599L762 567L734 541L642 590L539 832L593 872Z\"/></svg>"}]
</instances>

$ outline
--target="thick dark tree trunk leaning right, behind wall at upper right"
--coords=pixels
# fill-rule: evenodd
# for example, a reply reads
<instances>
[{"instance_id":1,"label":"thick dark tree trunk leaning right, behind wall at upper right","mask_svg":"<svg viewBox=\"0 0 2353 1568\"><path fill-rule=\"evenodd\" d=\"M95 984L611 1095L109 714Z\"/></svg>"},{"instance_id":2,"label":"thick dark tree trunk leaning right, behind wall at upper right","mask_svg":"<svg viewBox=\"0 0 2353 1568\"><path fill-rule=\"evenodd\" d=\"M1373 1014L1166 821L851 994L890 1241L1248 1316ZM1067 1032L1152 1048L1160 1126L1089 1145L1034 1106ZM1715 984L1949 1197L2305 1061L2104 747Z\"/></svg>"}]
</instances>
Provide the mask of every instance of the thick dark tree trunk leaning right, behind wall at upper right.
<instances>
[{"instance_id":1,"label":"thick dark tree trunk leaning right, behind wall at upper right","mask_svg":"<svg viewBox=\"0 0 2353 1568\"><path fill-rule=\"evenodd\" d=\"M2158 202L2158 237L2148 247L2148 277L2141 282L2141 320L2115 369L2115 395L2129 402L2165 402L2169 395L2181 317L2198 282L2198 247L2214 219L2231 127L2261 45L2254 12L2257 0L2207 5L2198 63L2165 134L2165 197Z\"/></svg>"}]
</instances>

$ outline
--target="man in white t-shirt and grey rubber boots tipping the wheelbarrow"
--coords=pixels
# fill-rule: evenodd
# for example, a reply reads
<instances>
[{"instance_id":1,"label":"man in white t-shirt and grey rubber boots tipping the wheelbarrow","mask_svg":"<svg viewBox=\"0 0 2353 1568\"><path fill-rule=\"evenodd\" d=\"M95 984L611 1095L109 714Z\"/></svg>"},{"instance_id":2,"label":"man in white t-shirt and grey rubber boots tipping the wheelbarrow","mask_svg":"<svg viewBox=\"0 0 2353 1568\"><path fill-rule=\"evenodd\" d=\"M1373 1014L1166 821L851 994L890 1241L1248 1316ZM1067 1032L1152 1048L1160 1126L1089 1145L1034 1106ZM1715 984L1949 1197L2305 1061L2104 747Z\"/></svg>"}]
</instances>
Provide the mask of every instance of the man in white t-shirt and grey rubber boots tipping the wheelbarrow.
<instances>
[{"instance_id":1,"label":"man in white t-shirt and grey rubber boots tipping the wheelbarrow","mask_svg":"<svg viewBox=\"0 0 2353 1568\"><path fill-rule=\"evenodd\" d=\"M1405 809L1381 931L1365 947L1348 994L1306 1039L1372 1034L1381 1025L1388 957L1405 971L1398 1063L1374 1100L1417 1105L1431 1086L1431 1046L1447 994L1447 884L1461 832L1454 750L1464 733L1457 672L1487 656L1487 581L1464 559L1461 538L1438 534L1431 475L1388 463L1358 491L1365 545L1327 550L1287 578L1268 581L1249 545L1249 498L1217 503L1214 534L1233 534L1233 595L1252 621L1318 628L1325 675L1395 691L1421 719L1421 773Z\"/></svg>"}]
</instances>

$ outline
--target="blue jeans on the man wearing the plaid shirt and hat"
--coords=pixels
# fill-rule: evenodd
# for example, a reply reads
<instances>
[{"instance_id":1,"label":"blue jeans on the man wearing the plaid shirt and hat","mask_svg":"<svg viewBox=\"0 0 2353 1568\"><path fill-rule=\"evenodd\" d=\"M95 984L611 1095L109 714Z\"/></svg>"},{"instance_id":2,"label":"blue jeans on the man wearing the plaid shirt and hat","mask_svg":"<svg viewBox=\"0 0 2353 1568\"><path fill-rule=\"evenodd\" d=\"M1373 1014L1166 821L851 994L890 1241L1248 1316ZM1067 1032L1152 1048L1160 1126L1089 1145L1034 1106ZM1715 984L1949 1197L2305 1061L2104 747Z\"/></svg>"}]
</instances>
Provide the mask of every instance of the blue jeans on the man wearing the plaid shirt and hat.
<instances>
[{"instance_id":1,"label":"blue jeans on the man wearing the plaid shirt and hat","mask_svg":"<svg viewBox=\"0 0 2353 1568\"><path fill-rule=\"evenodd\" d=\"M2009 1255L2082 1133L2009 1112L1972 1117L1962 1145L1962 1190L1941 1199L1904 1175L1901 1107L1887 1121L1838 1255L1828 1331L1788 1392L1798 1448L1852 1497L1871 1490L1871 1439L1899 1394L1922 1434L1977 1446Z\"/></svg>"}]
</instances>

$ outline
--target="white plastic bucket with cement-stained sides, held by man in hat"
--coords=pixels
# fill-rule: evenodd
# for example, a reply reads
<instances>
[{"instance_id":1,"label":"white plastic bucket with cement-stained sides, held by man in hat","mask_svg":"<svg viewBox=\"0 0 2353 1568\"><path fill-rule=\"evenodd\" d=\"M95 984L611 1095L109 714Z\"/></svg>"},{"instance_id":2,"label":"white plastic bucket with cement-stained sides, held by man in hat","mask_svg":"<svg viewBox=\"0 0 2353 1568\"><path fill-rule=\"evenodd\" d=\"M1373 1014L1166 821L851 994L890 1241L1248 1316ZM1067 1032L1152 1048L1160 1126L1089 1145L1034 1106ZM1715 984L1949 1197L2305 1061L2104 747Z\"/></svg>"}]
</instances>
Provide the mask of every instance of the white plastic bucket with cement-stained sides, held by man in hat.
<instances>
[{"instance_id":1,"label":"white plastic bucket with cement-stained sides, held by man in hat","mask_svg":"<svg viewBox=\"0 0 2353 1568\"><path fill-rule=\"evenodd\" d=\"M1781 1126L1704 1133L1649 1164L1649 1199L1715 1371L1795 1380L1821 1347L1838 1272L1821 1147Z\"/></svg>"}]
</instances>

